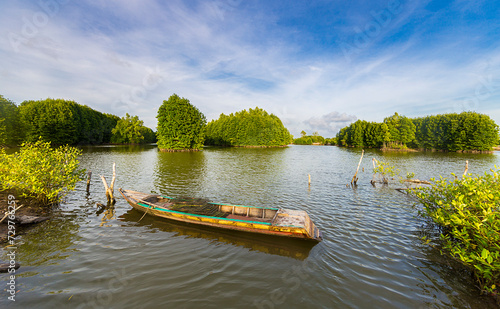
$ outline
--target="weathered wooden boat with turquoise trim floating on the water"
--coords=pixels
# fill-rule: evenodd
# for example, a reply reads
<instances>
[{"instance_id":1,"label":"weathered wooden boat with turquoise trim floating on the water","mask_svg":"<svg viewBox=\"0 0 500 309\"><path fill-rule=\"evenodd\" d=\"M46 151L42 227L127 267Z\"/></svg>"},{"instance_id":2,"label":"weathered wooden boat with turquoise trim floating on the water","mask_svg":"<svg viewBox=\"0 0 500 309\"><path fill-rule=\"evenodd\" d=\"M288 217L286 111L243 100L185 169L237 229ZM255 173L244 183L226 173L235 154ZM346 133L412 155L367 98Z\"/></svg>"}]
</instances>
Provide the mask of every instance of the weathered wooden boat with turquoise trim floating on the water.
<instances>
[{"instance_id":1,"label":"weathered wooden boat with turquoise trim floating on the water","mask_svg":"<svg viewBox=\"0 0 500 309\"><path fill-rule=\"evenodd\" d=\"M319 242L321 232L303 210L212 203L118 189L135 209L198 225Z\"/></svg>"}]
</instances>

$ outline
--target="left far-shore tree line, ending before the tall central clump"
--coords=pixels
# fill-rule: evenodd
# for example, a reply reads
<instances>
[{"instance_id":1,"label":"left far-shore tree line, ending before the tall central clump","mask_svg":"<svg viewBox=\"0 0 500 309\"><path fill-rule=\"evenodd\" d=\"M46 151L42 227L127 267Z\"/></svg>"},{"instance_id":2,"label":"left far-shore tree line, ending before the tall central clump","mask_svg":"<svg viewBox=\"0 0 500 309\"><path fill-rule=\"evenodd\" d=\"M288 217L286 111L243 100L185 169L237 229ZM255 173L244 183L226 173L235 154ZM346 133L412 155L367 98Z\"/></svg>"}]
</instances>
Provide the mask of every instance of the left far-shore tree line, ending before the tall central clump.
<instances>
[{"instance_id":1,"label":"left far-shore tree line, ending before the tall central clump","mask_svg":"<svg viewBox=\"0 0 500 309\"><path fill-rule=\"evenodd\" d=\"M0 145L39 139L55 145L156 141L155 133L137 116L120 118L63 99L24 101L17 106L0 95Z\"/></svg>"}]
</instances>

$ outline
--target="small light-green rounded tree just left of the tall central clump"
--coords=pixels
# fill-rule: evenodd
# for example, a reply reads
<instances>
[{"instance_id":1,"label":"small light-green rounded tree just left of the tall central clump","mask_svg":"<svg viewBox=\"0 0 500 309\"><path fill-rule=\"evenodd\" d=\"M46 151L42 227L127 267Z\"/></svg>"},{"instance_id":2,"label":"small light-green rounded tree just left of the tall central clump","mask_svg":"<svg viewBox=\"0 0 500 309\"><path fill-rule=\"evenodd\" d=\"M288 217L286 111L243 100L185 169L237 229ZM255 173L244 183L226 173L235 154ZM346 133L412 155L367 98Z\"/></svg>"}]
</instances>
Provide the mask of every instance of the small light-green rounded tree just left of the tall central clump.
<instances>
[{"instance_id":1,"label":"small light-green rounded tree just left of the tall central clump","mask_svg":"<svg viewBox=\"0 0 500 309\"><path fill-rule=\"evenodd\" d=\"M142 144L156 141L153 130L144 126L138 116L131 117L128 113L118 120L111 131L111 142L116 144Z\"/></svg>"}]
</instances>

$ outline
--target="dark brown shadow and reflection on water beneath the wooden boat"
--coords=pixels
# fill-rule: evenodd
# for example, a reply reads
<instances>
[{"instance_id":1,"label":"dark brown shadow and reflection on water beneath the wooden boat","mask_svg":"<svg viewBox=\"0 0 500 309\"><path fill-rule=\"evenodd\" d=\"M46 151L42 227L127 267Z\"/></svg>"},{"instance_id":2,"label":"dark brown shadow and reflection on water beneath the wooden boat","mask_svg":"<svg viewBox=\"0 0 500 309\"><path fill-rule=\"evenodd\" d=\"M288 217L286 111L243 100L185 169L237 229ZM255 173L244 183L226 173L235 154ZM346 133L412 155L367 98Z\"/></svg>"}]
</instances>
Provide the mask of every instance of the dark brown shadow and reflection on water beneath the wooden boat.
<instances>
[{"instance_id":1,"label":"dark brown shadow and reflection on water beneath the wooden boat","mask_svg":"<svg viewBox=\"0 0 500 309\"><path fill-rule=\"evenodd\" d=\"M170 221L152 216L143 217L143 215L144 213L140 211L129 209L126 213L119 216L118 220L134 222L139 226L175 233L174 236L203 238L209 241L245 247L252 251L291 257L301 261L309 256L309 252L317 244L308 240L288 239L280 236L253 234L210 226L195 226L189 223ZM141 217L143 217L142 220Z\"/></svg>"}]
</instances>

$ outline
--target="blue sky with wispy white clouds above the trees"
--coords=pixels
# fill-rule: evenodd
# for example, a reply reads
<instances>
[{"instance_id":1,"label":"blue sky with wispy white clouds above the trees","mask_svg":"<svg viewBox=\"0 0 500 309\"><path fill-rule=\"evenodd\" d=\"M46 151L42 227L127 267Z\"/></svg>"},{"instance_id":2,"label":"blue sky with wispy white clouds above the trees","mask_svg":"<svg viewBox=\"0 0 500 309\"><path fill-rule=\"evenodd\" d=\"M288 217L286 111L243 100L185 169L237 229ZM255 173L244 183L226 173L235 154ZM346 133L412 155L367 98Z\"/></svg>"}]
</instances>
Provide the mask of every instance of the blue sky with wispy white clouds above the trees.
<instances>
[{"instance_id":1,"label":"blue sky with wispy white clouds above the trees","mask_svg":"<svg viewBox=\"0 0 500 309\"><path fill-rule=\"evenodd\" d=\"M156 127L173 93L208 120L256 106L296 136L473 110L500 124L496 1L40 0L0 4L0 94Z\"/></svg>"}]
</instances>

